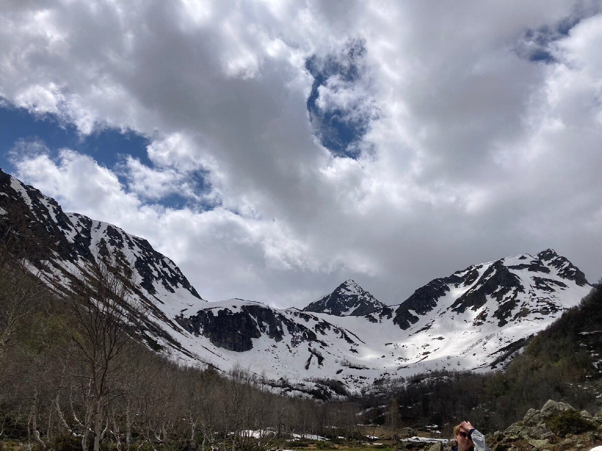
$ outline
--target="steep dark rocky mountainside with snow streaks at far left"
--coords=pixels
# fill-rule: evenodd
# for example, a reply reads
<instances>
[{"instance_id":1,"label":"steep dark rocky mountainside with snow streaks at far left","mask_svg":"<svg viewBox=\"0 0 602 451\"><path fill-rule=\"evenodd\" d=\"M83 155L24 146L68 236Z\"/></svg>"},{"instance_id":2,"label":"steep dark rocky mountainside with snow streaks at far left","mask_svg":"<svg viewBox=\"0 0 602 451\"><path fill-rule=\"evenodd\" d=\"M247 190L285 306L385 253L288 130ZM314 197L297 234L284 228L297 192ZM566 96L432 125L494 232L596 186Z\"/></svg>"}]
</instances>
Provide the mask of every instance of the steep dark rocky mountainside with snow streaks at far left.
<instances>
[{"instance_id":1,"label":"steep dark rocky mountainside with snow streaks at far left","mask_svg":"<svg viewBox=\"0 0 602 451\"><path fill-rule=\"evenodd\" d=\"M206 301L172 260L119 227L64 213L54 199L1 171L0 193L0 233L23 237L15 246L26 250L31 270L57 295L76 294L99 265L118 263L132 272L128 290L132 302L143 308L141 337L157 349L192 356L179 343L183 330L174 319Z\"/></svg>"}]
</instances>

